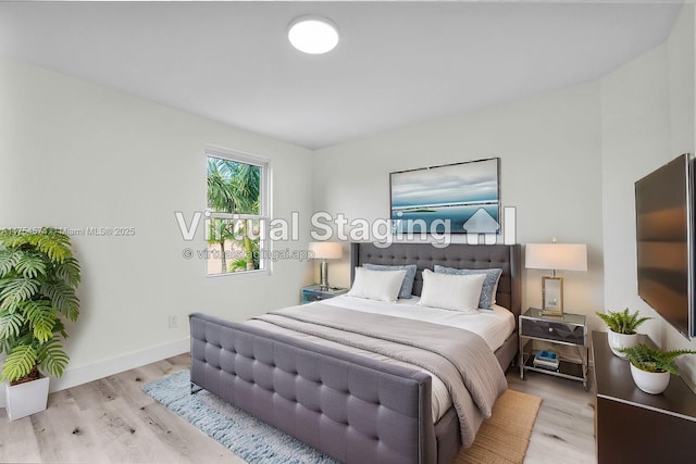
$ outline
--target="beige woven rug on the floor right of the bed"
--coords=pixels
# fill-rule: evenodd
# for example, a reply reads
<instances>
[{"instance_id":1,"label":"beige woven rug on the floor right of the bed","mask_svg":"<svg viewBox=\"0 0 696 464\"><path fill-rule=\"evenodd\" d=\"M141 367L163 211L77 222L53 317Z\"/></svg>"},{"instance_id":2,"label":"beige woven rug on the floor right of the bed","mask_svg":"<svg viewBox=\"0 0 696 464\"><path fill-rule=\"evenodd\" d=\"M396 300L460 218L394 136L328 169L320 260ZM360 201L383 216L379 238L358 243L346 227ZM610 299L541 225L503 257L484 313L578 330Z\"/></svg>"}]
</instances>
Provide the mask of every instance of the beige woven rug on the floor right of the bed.
<instances>
[{"instance_id":1,"label":"beige woven rug on the floor right of the bed","mask_svg":"<svg viewBox=\"0 0 696 464\"><path fill-rule=\"evenodd\" d=\"M506 390L493 406L493 415L478 429L474 443L461 450L456 464L521 464L530 444L542 399Z\"/></svg>"}]
</instances>

